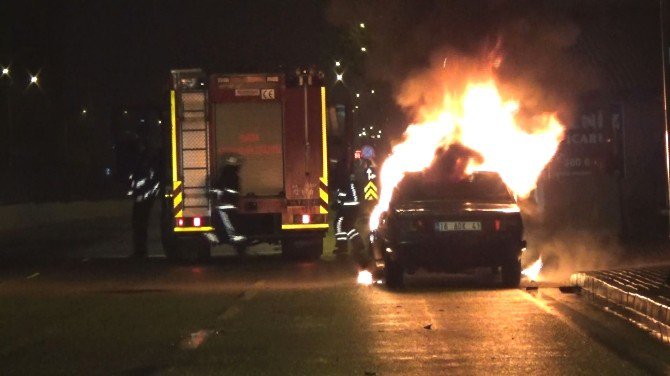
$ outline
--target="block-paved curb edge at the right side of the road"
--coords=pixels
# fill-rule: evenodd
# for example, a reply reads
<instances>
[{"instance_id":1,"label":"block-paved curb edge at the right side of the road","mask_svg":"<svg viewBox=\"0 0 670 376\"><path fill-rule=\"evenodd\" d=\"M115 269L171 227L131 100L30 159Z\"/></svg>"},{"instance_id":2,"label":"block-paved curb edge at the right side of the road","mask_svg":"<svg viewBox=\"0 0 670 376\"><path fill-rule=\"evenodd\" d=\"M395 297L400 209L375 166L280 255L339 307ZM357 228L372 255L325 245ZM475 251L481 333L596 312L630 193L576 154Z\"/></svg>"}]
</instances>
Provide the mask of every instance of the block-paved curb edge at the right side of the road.
<instances>
[{"instance_id":1,"label":"block-paved curb edge at the right side of the road","mask_svg":"<svg viewBox=\"0 0 670 376\"><path fill-rule=\"evenodd\" d=\"M573 274L570 283L580 286L591 303L632 321L670 344L670 306L637 292L626 291L589 272Z\"/></svg>"}]
</instances>

